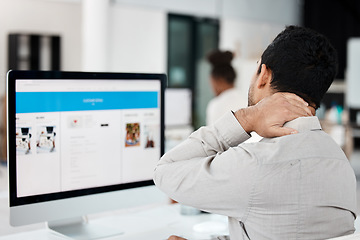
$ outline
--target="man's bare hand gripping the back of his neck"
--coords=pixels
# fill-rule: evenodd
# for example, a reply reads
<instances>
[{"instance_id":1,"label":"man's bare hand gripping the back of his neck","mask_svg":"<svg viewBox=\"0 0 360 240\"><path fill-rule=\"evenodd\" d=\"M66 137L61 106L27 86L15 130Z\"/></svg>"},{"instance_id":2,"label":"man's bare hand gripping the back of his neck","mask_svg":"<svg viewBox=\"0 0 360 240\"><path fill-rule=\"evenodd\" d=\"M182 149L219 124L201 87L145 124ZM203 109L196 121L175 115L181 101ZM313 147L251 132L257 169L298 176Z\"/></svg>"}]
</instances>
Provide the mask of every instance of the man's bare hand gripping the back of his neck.
<instances>
[{"instance_id":1,"label":"man's bare hand gripping the back of his neck","mask_svg":"<svg viewBox=\"0 0 360 240\"><path fill-rule=\"evenodd\" d=\"M298 117L312 116L309 104L292 93L275 93L256 105L235 112L235 117L248 133L262 137L280 137L297 133L283 125Z\"/></svg>"}]
</instances>

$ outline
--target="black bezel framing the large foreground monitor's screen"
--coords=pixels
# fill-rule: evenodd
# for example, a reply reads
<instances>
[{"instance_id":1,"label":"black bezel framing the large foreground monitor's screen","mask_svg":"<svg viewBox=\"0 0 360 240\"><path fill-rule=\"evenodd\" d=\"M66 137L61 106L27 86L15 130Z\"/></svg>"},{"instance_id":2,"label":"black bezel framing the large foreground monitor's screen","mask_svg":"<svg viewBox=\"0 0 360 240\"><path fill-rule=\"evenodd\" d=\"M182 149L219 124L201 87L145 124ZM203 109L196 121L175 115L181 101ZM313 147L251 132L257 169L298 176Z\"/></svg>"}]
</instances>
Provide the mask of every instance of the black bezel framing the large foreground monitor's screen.
<instances>
[{"instance_id":1,"label":"black bezel framing the large foreground monitor's screen","mask_svg":"<svg viewBox=\"0 0 360 240\"><path fill-rule=\"evenodd\" d=\"M158 80L160 82L160 140L164 143L164 92L167 84L166 74L162 73L105 73L105 72L64 72L64 71L20 71L10 70L7 74L7 140L8 140L8 177L9 177L9 205L22 206L33 203L82 197L92 194L115 192L125 189L154 185L153 180L93 187L59 193L41 194L35 196L17 197L16 179L16 80ZM160 156L164 154L164 144L160 146Z\"/></svg>"}]
</instances>

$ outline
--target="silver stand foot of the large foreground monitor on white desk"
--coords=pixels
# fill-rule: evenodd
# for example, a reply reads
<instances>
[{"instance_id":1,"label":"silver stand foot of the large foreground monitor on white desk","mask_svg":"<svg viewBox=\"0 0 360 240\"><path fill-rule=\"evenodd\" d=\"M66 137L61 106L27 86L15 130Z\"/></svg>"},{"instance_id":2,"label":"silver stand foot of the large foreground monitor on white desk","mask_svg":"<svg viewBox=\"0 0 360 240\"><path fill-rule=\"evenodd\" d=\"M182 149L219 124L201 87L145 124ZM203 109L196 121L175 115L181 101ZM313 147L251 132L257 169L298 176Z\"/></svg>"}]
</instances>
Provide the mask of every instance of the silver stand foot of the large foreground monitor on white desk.
<instances>
[{"instance_id":1,"label":"silver stand foot of the large foreground monitor on white desk","mask_svg":"<svg viewBox=\"0 0 360 240\"><path fill-rule=\"evenodd\" d=\"M102 224L90 223L87 217L51 221L48 228L72 239L100 239L124 234L120 229Z\"/></svg>"}]
</instances>

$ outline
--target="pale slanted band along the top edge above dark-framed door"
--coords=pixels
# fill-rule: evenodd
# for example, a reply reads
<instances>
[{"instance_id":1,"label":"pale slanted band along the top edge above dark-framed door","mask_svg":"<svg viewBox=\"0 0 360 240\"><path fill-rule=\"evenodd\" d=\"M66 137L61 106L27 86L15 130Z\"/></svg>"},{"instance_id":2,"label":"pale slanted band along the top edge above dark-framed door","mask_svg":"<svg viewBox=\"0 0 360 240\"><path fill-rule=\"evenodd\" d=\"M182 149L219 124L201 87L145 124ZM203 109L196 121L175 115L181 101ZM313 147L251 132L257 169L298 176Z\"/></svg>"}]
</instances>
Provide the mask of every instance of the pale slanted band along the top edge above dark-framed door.
<instances>
[{"instance_id":1,"label":"pale slanted band along the top edge above dark-framed door","mask_svg":"<svg viewBox=\"0 0 360 240\"><path fill-rule=\"evenodd\" d=\"M302 0L114 0L166 12L278 24L300 24Z\"/></svg>"}]
</instances>

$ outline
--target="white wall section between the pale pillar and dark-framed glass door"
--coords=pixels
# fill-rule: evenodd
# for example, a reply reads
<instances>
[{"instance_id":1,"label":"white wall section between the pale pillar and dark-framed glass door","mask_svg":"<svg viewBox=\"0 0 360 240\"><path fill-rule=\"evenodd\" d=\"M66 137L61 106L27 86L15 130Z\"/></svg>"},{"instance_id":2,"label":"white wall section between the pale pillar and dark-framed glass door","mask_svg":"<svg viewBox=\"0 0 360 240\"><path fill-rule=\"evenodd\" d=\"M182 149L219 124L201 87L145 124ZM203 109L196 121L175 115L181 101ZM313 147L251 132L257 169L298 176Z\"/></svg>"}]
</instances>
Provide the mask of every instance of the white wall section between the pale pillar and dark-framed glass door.
<instances>
[{"instance_id":1,"label":"white wall section between the pale pillar and dark-framed glass door","mask_svg":"<svg viewBox=\"0 0 360 240\"><path fill-rule=\"evenodd\" d=\"M109 18L109 71L166 72L166 12L114 4Z\"/></svg>"}]
</instances>

